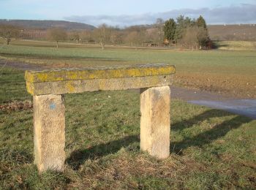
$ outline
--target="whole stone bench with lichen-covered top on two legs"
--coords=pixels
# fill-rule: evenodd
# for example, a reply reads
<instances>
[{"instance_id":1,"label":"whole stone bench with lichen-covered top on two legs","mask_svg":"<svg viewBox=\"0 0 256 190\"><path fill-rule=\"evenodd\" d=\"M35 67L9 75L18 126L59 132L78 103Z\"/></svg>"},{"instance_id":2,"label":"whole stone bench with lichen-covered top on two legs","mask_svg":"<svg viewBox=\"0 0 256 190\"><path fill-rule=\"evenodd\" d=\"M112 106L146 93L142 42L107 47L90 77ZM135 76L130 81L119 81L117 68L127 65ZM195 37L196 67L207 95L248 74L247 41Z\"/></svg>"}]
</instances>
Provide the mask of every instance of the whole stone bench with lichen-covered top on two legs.
<instances>
[{"instance_id":1,"label":"whole stone bench with lichen-covered top on two legs","mask_svg":"<svg viewBox=\"0 0 256 190\"><path fill-rule=\"evenodd\" d=\"M64 170L63 94L140 88L140 149L165 159L170 154L170 84L167 64L26 71L33 95L34 156L39 172Z\"/></svg>"}]
</instances>

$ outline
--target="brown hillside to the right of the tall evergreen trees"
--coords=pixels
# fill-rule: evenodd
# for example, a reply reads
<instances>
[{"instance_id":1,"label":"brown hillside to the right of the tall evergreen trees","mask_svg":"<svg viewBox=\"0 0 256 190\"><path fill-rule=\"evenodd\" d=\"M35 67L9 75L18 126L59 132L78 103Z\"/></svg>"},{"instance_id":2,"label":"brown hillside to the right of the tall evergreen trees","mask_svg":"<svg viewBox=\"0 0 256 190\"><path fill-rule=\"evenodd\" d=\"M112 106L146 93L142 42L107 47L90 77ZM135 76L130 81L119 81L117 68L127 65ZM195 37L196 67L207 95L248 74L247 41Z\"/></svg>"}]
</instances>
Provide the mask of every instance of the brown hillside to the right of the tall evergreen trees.
<instances>
[{"instance_id":1,"label":"brown hillside to the right of the tall evergreen trees","mask_svg":"<svg viewBox=\"0 0 256 190\"><path fill-rule=\"evenodd\" d=\"M256 40L256 24L209 25L208 32L213 40Z\"/></svg>"}]
</instances>

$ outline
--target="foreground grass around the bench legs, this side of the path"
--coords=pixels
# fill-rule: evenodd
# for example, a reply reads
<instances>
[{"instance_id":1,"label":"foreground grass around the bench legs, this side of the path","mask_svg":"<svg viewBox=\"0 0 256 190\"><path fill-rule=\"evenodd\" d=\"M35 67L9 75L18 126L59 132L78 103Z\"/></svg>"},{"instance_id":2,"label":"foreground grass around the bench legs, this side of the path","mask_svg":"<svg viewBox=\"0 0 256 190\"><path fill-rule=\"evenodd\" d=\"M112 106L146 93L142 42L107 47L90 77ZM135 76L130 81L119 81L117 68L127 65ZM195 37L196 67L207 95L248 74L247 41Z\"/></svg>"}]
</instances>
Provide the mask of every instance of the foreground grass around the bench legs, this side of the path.
<instances>
[{"instance_id":1,"label":"foreground grass around the bench legs, this side of the path","mask_svg":"<svg viewBox=\"0 0 256 190\"><path fill-rule=\"evenodd\" d=\"M2 72L0 104L31 99L23 72ZM140 152L137 92L64 98L67 161L60 173L39 175L33 164L32 110L0 110L0 189L256 188L256 121L173 100L171 155L159 161Z\"/></svg>"}]
</instances>

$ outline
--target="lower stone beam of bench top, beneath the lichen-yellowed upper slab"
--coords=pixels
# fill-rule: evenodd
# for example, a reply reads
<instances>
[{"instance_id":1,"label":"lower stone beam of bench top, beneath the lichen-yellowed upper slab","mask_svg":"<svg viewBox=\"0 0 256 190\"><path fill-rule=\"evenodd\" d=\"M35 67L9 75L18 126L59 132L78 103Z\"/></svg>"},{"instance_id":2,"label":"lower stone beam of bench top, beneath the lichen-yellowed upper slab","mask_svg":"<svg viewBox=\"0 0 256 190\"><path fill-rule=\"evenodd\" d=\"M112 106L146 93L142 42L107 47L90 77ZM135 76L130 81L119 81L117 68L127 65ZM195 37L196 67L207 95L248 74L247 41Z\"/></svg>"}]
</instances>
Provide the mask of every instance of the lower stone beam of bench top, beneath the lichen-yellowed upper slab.
<instances>
[{"instance_id":1,"label":"lower stone beam of bench top, beneath the lichen-yellowed upper slab","mask_svg":"<svg viewBox=\"0 0 256 190\"><path fill-rule=\"evenodd\" d=\"M27 83L29 93L41 94L73 94L84 91L127 90L152 86L169 86L172 75L155 75L147 77L124 77L93 80L64 80L45 83Z\"/></svg>"}]
</instances>

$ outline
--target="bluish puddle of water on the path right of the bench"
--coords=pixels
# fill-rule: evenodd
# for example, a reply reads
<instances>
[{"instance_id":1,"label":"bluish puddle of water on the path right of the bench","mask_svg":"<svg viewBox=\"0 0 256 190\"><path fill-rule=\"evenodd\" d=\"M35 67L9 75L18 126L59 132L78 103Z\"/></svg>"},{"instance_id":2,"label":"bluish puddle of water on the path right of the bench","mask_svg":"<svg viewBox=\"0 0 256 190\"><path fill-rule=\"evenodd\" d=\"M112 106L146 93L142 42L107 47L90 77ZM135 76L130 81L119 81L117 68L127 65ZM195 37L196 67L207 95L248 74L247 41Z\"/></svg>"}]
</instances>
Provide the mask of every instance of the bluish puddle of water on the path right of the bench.
<instances>
[{"instance_id":1,"label":"bluish puddle of water on the path right of the bench","mask_svg":"<svg viewBox=\"0 0 256 190\"><path fill-rule=\"evenodd\" d=\"M232 99L224 101L192 100L188 102L226 110L230 113L245 115L249 118L256 119L256 99Z\"/></svg>"}]
</instances>

